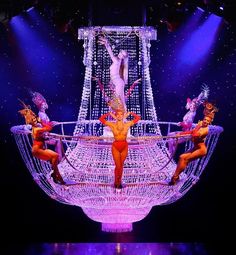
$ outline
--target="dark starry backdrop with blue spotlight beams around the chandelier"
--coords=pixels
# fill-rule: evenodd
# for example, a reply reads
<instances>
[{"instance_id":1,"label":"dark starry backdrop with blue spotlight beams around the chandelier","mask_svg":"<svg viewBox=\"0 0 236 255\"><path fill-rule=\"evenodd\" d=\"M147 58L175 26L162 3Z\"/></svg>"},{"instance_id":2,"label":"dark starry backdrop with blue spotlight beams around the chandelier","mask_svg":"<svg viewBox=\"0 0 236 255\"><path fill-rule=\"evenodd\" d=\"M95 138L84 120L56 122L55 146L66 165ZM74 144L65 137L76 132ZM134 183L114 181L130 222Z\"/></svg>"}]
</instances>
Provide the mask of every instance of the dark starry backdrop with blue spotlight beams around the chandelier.
<instances>
[{"instance_id":1,"label":"dark starry backdrop with blue spotlight beams around the chandelier","mask_svg":"<svg viewBox=\"0 0 236 255\"><path fill-rule=\"evenodd\" d=\"M99 16L105 1L97 7L94 2L92 13L87 12L87 7L79 6L80 16L70 24L65 23L68 17L63 16L63 20L52 13L50 6L42 5L8 16L0 23L0 182L4 240L17 244L12 250L31 249L26 254L54 254L32 253L32 249L42 250L42 247L28 246L34 243L189 243L195 244L192 253L181 253L176 248L175 252L160 254L215 254L220 244L230 245L229 233L234 231L235 223L235 21L214 14L217 22L197 34L199 24L188 23L193 13L199 11L196 6L188 7L178 26L170 28L166 22L158 22L169 16L161 17L162 9L155 7L154 1L139 1L137 12L133 11L132 15L117 7L113 20L109 19L111 14ZM81 208L56 202L37 186L21 159L10 128L24 124L18 113L21 107L18 98L32 104L29 89L46 97L51 119L77 120L84 80L84 49L83 43L77 40L77 28L89 25L89 15L93 16L90 25L141 26L144 22L141 3L149 4L146 24L157 29L157 40L151 42L150 75L158 119L181 121L186 112L186 98L197 96L202 84L207 84L209 99L219 108L214 124L222 126L224 132L200 180L183 198L173 204L153 207L145 219L134 223L132 232L111 234L102 232L101 225L90 220ZM128 6L131 8L131 4ZM96 8L98 12L94 11ZM209 11L205 11L202 20L209 18ZM68 10L65 13L70 14ZM198 110L196 121L202 117L202 110ZM196 248L197 245L205 250ZM126 253L114 250L110 254Z\"/></svg>"}]
</instances>

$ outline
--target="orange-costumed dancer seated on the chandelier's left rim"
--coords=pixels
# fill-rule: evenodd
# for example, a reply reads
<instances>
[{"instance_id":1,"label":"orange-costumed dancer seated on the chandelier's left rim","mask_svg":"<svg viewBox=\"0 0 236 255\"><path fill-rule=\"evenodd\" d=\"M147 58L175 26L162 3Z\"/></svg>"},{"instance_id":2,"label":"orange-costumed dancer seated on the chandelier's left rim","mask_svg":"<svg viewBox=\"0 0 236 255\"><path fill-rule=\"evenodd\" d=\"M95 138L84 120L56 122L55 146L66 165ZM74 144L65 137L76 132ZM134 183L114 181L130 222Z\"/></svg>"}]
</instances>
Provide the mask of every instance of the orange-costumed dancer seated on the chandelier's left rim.
<instances>
[{"instance_id":1,"label":"orange-costumed dancer seated on the chandelier's left rim","mask_svg":"<svg viewBox=\"0 0 236 255\"><path fill-rule=\"evenodd\" d=\"M32 155L41 160L49 160L53 169L53 173L51 174L53 181L58 184L65 184L57 166L59 158L58 153L53 150L45 149L46 138L44 134L52 130L53 122L42 122L29 106L25 104L23 104L23 106L24 109L20 110L19 113L25 117L26 124L32 126Z\"/></svg>"}]
</instances>

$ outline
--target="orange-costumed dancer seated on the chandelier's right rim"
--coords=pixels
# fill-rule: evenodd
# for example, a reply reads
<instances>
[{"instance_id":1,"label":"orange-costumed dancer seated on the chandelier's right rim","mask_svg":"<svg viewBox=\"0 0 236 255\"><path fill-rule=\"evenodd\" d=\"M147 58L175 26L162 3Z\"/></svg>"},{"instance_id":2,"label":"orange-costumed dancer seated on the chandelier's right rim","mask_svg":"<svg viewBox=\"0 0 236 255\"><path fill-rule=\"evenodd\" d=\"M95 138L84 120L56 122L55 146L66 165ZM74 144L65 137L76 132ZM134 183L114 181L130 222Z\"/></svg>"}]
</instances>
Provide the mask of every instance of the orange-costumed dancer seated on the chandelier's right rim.
<instances>
[{"instance_id":1,"label":"orange-costumed dancer seated on the chandelier's right rim","mask_svg":"<svg viewBox=\"0 0 236 255\"><path fill-rule=\"evenodd\" d=\"M180 155L177 168L173 176L171 177L169 185L176 184L176 182L179 180L179 175L184 171L184 169L191 161L202 158L207 154L205 140L209 132L208 125L211 124L211 122L213 121L215 113L218 111L218 109L215 107L214 104L210 102L205 102L204 107L204 119L202 121L199 121L199 123L194 129L179 133L179 135L191 135L193 148Z\"/></svg>"}]
</instances>

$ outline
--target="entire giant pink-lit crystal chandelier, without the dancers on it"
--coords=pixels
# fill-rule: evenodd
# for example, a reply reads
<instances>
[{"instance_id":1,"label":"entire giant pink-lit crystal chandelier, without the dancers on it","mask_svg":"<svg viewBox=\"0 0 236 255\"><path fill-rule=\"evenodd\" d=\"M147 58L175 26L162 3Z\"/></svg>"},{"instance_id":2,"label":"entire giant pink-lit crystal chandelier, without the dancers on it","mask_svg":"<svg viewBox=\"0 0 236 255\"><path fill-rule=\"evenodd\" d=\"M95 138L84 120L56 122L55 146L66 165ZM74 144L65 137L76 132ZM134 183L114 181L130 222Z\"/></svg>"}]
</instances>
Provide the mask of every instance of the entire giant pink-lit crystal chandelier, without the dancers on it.
<instances>
[{"instance_id":1,"label":"entire giant pink-lit crystal chandelier, without the dancers on it","mask_svg":"<svg viewBox=\"0 0 236 255\"><path fill-rule=\"evenodd\" d=\"M92 81L92 75L98 77L107 95L111 95L111 59L105 47L96 45L95 40L101 33L111 45L116 43L114 54L120 49L128 51L129 84L125 90L138 78L142 79L127 98L129 111L141 115L142 120L131 128L127 138L129 151L121 190L113 186L113 136L98 121L109 108L102 91ZM103 223L104 231L131 231L132 223L142 220L153 206L175 202L199 180L223 129L210 126L207 155L189 164L180 175L180 181L169 186L176 162L169 153L168 137L163 136L163 130L170 132L177 123L157 121L149 72L150 40L156 39L156 30L151 27L89 27L79 29L78 38L84 40L85 65L78 119L60 123L61 134L56 137L61 139L65 150L65 158L58 167L67 184L54 183L50 177L50 163L32 157L31 129L16 126L11 131L27 168L46 194L61 203L80 206L88 217ZM64 131L71 124L75 125L73 135ZM191 147L192 143L187 141L185 149Z\"/></svg>"}]
</instances>

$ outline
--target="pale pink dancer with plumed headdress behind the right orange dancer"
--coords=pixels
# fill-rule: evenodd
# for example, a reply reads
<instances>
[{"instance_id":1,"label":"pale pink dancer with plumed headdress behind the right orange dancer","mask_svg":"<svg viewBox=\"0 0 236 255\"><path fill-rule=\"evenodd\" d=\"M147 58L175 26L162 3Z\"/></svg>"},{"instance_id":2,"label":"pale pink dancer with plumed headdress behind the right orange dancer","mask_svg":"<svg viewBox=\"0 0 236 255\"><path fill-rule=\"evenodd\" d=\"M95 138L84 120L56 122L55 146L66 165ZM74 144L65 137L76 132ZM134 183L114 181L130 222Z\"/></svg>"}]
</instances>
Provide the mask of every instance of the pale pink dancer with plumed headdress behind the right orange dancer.
<instances>
[{"instance_id":1,"label":"pale pink dancer with plumed headdress behind the right orange dancer","mask_svg":"<svg viewBox=\"0 0 236 255\"><path fill-rule=\"evenodd\" d=\"M208 95L209 95L209 88L208 86L205 85L202 87L202 91L197 97L193 98L192 100L190 98L187 98L187 104L185 108L189 111L184 115L183 121L178 123L178 126L182 127L182 131L191 130L193 122L194 122L194 118L197 113L197 109L201 104L203 104L207 100ZM177 135L179 132L181 131L171 132L168 135L174 136L174 135ZM177 140L178 144L183 142L186 142L186 138L182 137ZM168 148L170 153L174 154L174 151L176 149L175 139L169 139Z\"/></svg>"}]
</instances>

